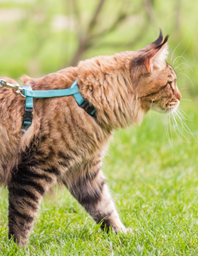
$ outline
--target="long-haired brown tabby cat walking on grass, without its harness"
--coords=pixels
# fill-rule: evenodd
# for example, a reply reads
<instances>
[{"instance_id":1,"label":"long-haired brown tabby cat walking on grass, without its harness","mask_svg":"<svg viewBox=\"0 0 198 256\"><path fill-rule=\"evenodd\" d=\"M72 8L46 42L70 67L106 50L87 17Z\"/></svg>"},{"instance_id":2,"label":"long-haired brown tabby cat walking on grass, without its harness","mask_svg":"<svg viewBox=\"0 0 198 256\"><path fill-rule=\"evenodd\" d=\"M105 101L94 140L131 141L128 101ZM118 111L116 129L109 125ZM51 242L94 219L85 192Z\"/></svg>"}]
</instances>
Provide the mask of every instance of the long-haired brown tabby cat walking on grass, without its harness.
<instances>
[{"instance_id":1,"label":"long-haired brown tabby cat walking on grass, without its harness","mask_svg":"<svg viewBox=\"0 0 198 256\"><path fill-rule=\"evenodd\" d=\"M65 184L102 229L131 231L111 200L102 158L113 130L140 124L151 104L162 113L178 107L177 77L165 61L167 40L160 30L159 38L141 50L96 56L43 78L23 76L33 90L69 88L77 80L81 96L96 109L94 116L74 96L34 99L32 125L24 131L25 99L0 88L0 181L9 192L9 239L26 245L42 197L56 183Z\"/></svg>"}]
</instances>

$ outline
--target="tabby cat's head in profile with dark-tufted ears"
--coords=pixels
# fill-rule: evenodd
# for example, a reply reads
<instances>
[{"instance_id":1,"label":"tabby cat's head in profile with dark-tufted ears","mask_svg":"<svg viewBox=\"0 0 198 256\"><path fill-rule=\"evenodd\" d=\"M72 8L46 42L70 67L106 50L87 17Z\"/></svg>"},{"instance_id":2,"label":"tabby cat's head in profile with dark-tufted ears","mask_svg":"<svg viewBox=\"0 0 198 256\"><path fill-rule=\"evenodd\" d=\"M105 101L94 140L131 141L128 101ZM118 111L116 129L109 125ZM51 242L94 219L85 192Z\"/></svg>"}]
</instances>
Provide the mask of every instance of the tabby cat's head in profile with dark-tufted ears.
<instances>
[{"instance_id":1,"label":"tabby cat's head in profile with dark-tufted ears","mask_svg":"<svg viewBox=\"0 0 198 256\"><path fill-rule=\"evenodd\" d=\"M181 99L177 87L177 76L166 63L168 54L168 36L160 36L145 48L136 51L131 62L131 75L136 95L141 101L142 109L169 113L174 111Z\"/></svg>"}]
</instances>

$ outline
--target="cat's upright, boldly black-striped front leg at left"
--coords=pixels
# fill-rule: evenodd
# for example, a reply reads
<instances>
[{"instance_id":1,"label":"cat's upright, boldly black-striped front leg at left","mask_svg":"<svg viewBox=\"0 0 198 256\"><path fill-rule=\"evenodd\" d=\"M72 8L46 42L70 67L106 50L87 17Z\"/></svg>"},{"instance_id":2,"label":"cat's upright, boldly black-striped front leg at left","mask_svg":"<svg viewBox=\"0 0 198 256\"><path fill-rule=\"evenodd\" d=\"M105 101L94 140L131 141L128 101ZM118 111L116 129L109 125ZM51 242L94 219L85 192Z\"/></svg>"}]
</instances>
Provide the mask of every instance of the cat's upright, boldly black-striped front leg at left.
<instances>
[{"instance_id":1,"label":"cat's upright, boldly black-striped front leg at left","mask_svg":"<svg viewBox=\"0 0 198 256\"><path fill-rule=\"evenodd\" d=\"M33 157L31 159L34 164ZM22 247L32 230L42 197L56 177L52 169L42 170L30 164L31 161L22 162L13 169L8 183L8 237L13 237Z\"/></svg>"}]
</instances>

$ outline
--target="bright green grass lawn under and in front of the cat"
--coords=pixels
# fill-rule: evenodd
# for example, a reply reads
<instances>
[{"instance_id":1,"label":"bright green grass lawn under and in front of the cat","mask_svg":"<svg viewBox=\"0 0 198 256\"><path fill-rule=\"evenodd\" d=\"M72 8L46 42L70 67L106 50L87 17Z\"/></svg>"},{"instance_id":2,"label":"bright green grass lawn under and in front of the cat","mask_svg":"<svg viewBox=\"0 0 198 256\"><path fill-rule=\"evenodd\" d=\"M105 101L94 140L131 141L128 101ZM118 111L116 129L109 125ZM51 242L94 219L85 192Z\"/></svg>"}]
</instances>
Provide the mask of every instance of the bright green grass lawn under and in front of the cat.
<instances>
[{"instance_id":1,"label":"bright green grass lawn under and in front of the cat","mask_svg":"<svg viewBox=\"0 0 198 256\"><path fill-rule=\"evenodd\" d=\"M184 96L186 99L187 96ZM198 105L181 102L198 130ZM198 143L166 138L164 116L114 133L103 165L120 218L133 233L106 234L62 187L41 204L29 238L31 255L197 255ZM197 134L195 134L198 139ZM0 193L0 255L23 255L8 242L8 191ZM31 246L37 248L33 251Z\"/></svg>"}]
</instances>

